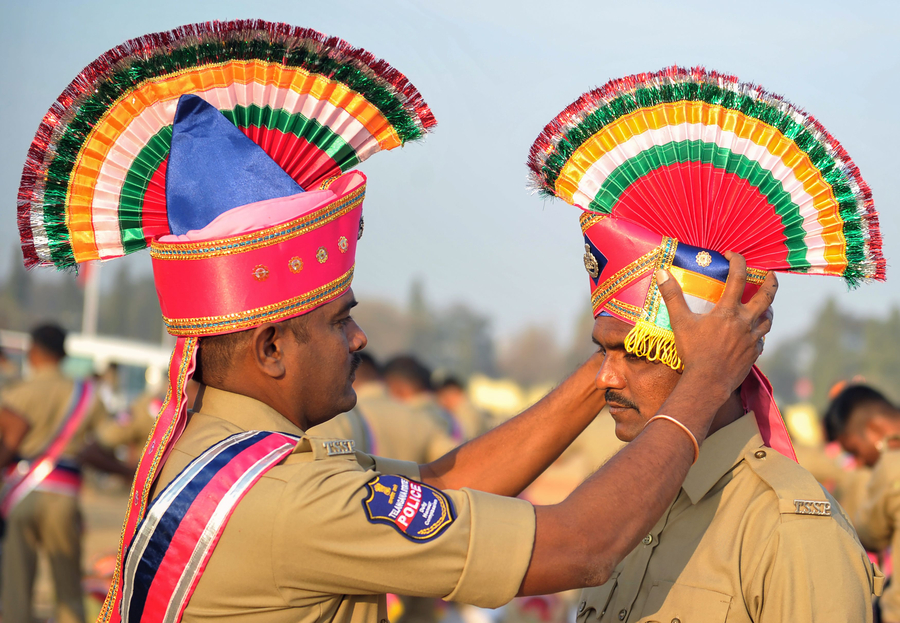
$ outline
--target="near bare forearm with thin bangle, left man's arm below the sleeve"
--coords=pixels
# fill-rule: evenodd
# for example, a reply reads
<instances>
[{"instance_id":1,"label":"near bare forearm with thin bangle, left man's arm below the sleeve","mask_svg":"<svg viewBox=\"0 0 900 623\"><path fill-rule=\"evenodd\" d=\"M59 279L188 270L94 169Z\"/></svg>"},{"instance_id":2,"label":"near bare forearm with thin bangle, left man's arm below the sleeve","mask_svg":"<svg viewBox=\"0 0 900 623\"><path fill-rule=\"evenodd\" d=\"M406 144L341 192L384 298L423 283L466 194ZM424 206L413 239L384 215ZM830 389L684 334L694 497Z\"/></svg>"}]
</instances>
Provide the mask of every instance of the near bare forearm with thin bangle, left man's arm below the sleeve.
<instances>
[{"instance_id":1,"label":"near bare forearm with thin bangle, left man's arm below the sleeve","mask_svg":"<svg viewBox=\"0 0 900 623\"><path fill-rule=\"evenodd\" d=\"M702 441L727 395L686 374L659 413L683 422ZM521 594L605 582L672 503L693 459L684 431L654 421L564 502L537 507L535 547Z\"/></svg>"}]
</instances>

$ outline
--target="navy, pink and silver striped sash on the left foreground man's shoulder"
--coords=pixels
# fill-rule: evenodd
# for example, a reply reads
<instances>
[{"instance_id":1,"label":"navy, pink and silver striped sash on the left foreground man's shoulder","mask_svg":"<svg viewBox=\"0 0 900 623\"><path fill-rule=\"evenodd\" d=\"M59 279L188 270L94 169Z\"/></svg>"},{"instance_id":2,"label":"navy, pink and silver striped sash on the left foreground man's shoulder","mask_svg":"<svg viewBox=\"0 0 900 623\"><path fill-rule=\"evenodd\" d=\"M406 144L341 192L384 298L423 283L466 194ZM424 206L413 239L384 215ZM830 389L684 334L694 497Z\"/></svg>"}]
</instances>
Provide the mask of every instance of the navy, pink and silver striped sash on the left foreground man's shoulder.
<instances>
[{"instance_id":1,"label":"navy, pink and silver striped sash on the left foreground man's shoulder","mask_svg":"<svg viewBox=\"0 0 900 623\"><path fill-rule=\"evenodd\" d=\"M147 509L122 569L123 623L176 623L247 491L299 437L249 431L206 450Z\"/></svg>"}]
</instances>

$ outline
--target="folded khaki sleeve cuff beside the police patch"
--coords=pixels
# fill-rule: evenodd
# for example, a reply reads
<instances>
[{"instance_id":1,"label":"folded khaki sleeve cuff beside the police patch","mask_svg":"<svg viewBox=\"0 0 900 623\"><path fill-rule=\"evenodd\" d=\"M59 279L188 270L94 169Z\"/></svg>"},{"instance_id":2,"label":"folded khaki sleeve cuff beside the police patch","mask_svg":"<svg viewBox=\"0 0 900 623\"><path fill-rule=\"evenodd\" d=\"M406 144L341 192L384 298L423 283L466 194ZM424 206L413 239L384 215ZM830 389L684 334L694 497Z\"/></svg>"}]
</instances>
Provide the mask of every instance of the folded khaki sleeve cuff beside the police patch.
<instances>
[{"instance_id":1,"label":"folded khaki sleeve cuff beside the police patch","mask_svg":"<svg viewBox=\"0 0 900 623\"><path fill-rule=\"evenodd\" d=\"M463 489L472 528L459 583L445 599L497 608L519 592L534 547L534 507L525 500Z\"/></svg>"}]
</instances>

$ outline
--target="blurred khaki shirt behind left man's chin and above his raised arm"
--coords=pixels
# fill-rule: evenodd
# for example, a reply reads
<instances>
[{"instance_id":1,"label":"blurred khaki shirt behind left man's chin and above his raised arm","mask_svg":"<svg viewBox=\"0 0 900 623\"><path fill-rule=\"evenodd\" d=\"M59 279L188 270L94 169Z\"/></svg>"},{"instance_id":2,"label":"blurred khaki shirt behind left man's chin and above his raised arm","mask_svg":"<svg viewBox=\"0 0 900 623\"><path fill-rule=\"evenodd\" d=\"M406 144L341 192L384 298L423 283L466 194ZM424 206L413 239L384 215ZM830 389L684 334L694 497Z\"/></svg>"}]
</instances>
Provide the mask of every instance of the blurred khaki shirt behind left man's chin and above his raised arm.
<instances>
[{"instance_id":1,"label":"blurred khaki shirt behind left man's chin and above his raised arm","mask_svg":"<svg viewBox=\"0 0 900 623\"><path fill-rule=\"evenodd\" d=\"M314 426L311 437L352 439L357 450L417 464L431 463L457 446L434 416L388 396L381 383L366 383L349 413Z\"/></svg>"}]
</instances>

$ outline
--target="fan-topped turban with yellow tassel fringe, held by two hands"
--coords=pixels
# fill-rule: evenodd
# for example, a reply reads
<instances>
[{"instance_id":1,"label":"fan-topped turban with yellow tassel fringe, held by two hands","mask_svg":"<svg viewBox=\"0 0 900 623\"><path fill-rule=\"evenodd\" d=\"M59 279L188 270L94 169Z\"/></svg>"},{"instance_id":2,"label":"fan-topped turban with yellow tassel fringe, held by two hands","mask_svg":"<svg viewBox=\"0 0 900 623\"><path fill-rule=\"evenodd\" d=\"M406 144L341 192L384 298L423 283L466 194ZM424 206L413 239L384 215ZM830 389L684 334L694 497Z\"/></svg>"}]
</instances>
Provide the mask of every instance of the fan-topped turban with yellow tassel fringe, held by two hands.
<instances>
[{"instance_id":1,"label":"fan-topped turban with yellow tassel fringe, held by two hands","mask_svg":"<svg viewBox=\"0 0 900 623\"><path fill-rule=\"evenodd\" d=\"M582 95L528 158L541 193L581 208L594 315L634 328L629 352L680 369L655 272L695 312L719 300L726 250L749 268L884 279L869 187L812 116L758 86L700 68L613 80Z\"/></svg>"}]
</instances>

